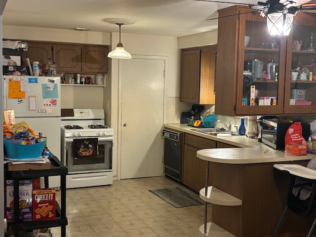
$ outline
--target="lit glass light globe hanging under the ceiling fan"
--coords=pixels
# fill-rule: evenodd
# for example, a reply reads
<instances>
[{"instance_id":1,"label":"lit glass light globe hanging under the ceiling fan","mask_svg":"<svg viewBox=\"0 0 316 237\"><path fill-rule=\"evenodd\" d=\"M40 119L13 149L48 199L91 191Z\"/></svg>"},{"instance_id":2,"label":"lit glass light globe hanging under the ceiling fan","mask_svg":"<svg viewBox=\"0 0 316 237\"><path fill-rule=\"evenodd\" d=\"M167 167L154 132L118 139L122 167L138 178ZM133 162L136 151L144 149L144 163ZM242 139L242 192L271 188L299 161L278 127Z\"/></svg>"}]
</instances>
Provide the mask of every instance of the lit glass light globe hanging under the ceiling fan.
<instances>
[{"instance_id":1,"label":"lit glass light globe hanging under the ceiling fan","mask_svg":"<svg viewBox=\"0 0 316 237\"><path fill-rule=\"evenodd\" d=\"M269 35L288 36L291 32L294 15L283 12L268 13L266 15L266 23Z\"/></svg>"}]
</instances>

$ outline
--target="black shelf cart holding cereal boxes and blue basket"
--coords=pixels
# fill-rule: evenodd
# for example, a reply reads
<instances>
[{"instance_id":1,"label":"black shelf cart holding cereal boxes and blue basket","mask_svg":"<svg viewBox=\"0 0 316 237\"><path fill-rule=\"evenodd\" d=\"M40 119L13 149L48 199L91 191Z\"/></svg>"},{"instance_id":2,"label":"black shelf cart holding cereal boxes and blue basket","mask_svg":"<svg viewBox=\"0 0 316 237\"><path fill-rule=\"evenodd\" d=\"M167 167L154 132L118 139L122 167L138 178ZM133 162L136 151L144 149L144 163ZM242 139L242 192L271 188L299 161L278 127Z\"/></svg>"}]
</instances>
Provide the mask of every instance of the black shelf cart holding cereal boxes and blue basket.
<instances>
[{"instance_id":1,"label":"black shelf cart holding cereal boxes and blue basket","mask_svg":"<svg viewBox=\"0 0 316 237\"><path fill-rule=\"evenodd\" d=\"M66 217L66 175L68 169L64 166L57 157L50 159L50 169L44 170L19 170L19 171L8 171L7 164L4 165L4 178L13 180L13 192L14 192L14 222L8 223L14 233L20 231L31 231L35 229L44 229L52 227L61 227L61 237L66 237L66 226L68 220ZM60 176L60 190L61 190L61 206L56 201L56 219L52 221L29 221L22 222L19 219L19 179L31 179L44 177L45 188L48 188L48 177L49 176ZM19 237L19 234L15 237Z\"/></svg>"}]
</instances>

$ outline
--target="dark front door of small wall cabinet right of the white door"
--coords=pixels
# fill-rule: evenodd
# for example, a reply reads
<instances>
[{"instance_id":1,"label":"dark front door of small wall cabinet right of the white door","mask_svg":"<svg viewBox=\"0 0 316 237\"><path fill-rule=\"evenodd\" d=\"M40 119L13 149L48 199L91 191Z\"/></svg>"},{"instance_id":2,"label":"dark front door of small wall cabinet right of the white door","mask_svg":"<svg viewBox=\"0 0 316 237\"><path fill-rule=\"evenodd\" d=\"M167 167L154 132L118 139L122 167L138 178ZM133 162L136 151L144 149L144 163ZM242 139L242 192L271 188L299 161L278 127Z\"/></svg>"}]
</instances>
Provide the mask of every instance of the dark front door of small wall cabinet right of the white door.
<instances>
[{"instance_id":1,"label":"dark front door of small wall cabinet right of the white door","mask_svg":"<svg viewBox=\"0 0 316 237\"><path fill-rule=\"evenodd\" d=\"M181 52L180 101L199 103L200 50Z\"/></svg>"}]
</instances>

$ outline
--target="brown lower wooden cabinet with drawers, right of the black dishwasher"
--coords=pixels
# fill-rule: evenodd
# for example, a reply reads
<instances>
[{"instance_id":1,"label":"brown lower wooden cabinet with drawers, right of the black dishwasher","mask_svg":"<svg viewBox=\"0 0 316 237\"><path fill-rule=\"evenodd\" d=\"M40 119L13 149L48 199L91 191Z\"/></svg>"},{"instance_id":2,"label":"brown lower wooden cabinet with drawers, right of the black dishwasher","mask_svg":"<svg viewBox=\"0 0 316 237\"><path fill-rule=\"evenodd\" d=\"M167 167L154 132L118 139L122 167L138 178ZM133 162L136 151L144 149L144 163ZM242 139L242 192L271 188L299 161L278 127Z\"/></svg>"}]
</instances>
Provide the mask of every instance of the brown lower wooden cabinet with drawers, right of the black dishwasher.
<instances>
[{"instance_id":1,"label":"brown lower wooden cabinet with drawers, right of the black dishwasher","mask_svg":"<svg viewBox=\"0 0 316 237\"><path fill-rule=\"evenodd\" d=\"M216 148L216 142L210 139L185 134L183 158L183 184L199 192L205 187L206 161L197 158L197 151L201 149ZM209 164L212 172L212 162ZM212 185L212 176L208 176L208 185Z\"/></svg>"}]
</instances>

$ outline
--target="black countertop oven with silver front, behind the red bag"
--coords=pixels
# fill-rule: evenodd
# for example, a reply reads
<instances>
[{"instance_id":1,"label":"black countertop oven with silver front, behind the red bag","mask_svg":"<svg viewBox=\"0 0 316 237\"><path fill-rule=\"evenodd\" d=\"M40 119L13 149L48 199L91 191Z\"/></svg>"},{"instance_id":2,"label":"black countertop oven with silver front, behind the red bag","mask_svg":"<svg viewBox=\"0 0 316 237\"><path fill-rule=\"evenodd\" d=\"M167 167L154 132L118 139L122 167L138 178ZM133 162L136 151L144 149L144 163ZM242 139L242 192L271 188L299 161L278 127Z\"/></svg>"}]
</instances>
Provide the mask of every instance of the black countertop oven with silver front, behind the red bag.
<instances>
[{"instance_id":1,"label":"black countertop oven with silver front, behind the red bag","mask_svg":"<svg viewBox=\"0 0 316 237\"><path fill-rule=\"evenodd\" d=\"M294 122L280 121L277 118L272 119L262 119L262 142L276 150L285 150L285 134L288 127ZM311 125L309 123L301 123L302 125L302 135L305 140L311 133Z\"/></svg>"}]
</instances>

